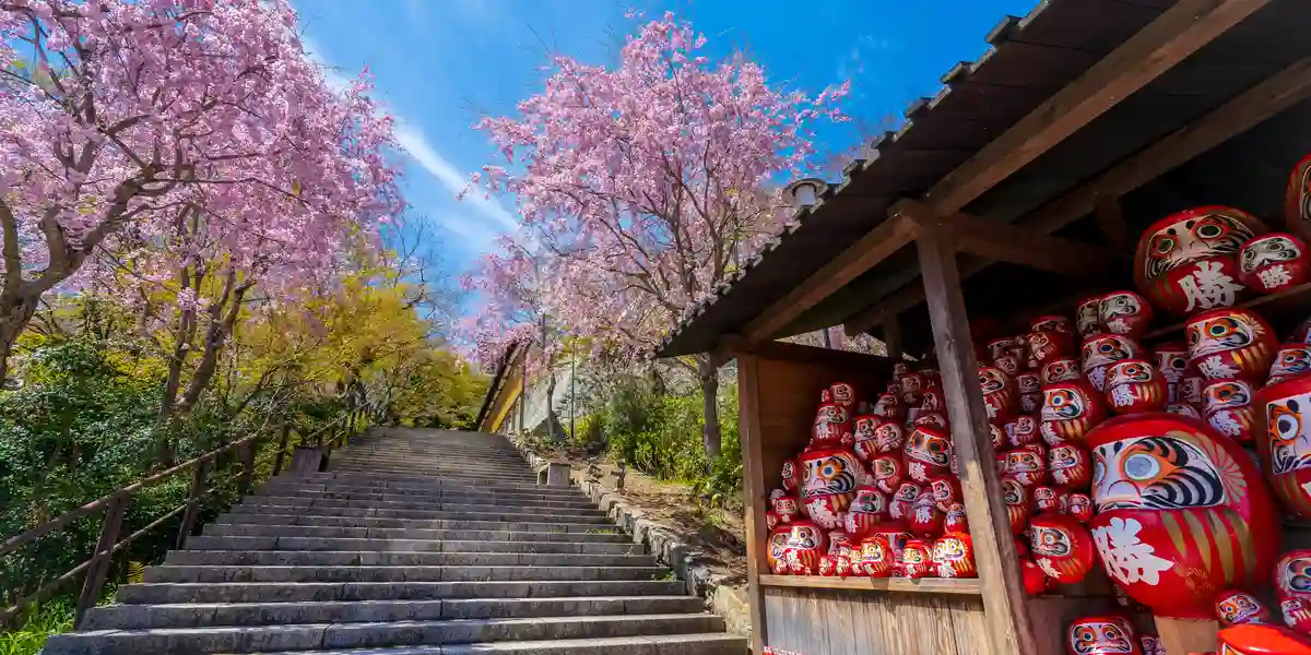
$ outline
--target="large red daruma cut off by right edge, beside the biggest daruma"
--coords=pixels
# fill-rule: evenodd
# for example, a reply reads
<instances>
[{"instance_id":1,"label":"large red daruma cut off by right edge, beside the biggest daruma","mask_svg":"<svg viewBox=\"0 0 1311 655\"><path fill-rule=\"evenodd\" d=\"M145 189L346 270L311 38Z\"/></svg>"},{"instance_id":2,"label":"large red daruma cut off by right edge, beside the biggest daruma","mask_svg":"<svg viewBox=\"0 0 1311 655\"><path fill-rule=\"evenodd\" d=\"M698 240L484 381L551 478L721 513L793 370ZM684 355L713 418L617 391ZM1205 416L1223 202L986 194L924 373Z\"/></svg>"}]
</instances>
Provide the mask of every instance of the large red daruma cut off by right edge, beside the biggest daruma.
<instances>
[{"instance_id":1,"label":"large red daruma cut off by right edge, beside the biggest daruma","mask_svg":"<svg viewBox=\"0 0 1311 655\"><path fill-rule=\"evenodd\" d=\"M1311 519L1311 376L1261 389L1253 410L1265 479L1285 511Z\"/></svg>"}]
</instances>

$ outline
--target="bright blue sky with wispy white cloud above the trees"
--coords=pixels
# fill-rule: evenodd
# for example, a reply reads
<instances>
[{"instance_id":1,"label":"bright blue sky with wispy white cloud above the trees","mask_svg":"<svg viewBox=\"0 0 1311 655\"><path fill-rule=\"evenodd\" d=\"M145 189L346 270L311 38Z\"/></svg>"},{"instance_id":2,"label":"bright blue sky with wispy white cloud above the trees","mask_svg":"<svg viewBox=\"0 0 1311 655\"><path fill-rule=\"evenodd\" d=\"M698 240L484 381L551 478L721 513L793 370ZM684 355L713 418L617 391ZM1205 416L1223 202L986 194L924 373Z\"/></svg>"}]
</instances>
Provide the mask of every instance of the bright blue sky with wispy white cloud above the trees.
<instances>
[{"instance_id":1,"label":"bright blue sky with wispy white cloud above the trees","mask_svg":"<svg viewBox=\"0 0 1311 655\"><path fill-rule=\"evenodd\" d=\"M983 35L1036 0L292 0L315 56L342 73L368 66L400 121L410 228L458 274L514 227L513 202L456 200L468 173L497 156L469 128L535 93L549 52L612 64L635 22L628 9L666 9L704 33L712 56L746 50L770 79L814 94L850 79L853 123L823 130L822 152L850 149L888 117L939 89ZM750 10L743 10L750 8Z\"/></svg>"}]
</instances>

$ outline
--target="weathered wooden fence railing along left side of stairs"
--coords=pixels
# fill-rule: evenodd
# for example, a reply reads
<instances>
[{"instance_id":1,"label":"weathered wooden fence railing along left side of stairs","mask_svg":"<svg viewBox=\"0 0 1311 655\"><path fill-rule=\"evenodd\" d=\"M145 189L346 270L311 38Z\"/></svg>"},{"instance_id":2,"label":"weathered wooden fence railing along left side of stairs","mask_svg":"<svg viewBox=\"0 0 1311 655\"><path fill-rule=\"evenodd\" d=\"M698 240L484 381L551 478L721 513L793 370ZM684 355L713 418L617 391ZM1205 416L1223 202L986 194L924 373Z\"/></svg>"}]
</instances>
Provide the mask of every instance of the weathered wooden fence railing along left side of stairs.
<instances>
[{"instance_id":1,"label":"weathered wooden fence railing along left side of stairs","mask_svg":"<svg viewBox=\"0 0 1311 655\"><path fill-rule=\"evenodd\" d=\"M350 414L342 414L337 419L319 427L309 434L300 435L300 445L319 445L325 447L329 452L350 439L351 434L361 428L359 422L350 418ZM282 472L283 462L286 461L287 441L291 436L291 426L283 424L281 435L278 439L278 449L273 455L273 476ZM60 587L73 580L79 575L83 575L83 588L81 593L77 596L77 609L73 614L73 627L79 627L85 616L87 610L96 607L100 601L104 591L105 583L108 580L114 554L119 550L127 548L130 544L138 538L148 534L155 528L159 528L169 519L182 515L181 525L177 531L177 540L174 541L176 548L181 549L193 531L197 529L197 521L201 517L201 511L203 507L203 500L208 495L206 489L207 477L210 474L210 466L219 461L219 457L240 449L239 453L241 470L235 476L237 485L237 496L250 493L250 485L254 479L256 468L262 464L256 461L256 453L260 447L261 438L265 435L254 434L237 439L222 448L210 451L194 460L185 461L170 469L161 470L146 478L142 478L131 485L122 489L111 491L96 500L92 500L73 511L69 511L62 516L51 519L41 525L37 525L21 534L16 534L0 542L0 557L7 553L13 553L22 548L24 545L31 544L33 541L50 534L55 531L63 529L71 525L79 519L92 516L97 512L101 514L100 524L100 538L96 542L96 550L93 552L90 559L75 566L72 570L64 572L59 578L42 584L37 591L28 593L26 596L17 597L13 605L0 609L0 627L8 625L14 617L17 617L26 607L33 603L39 603L54 595ZM325 438L326 441L325 441ZM186 502L170 512L160 516L147 524L146 527L138 529L136 532L128 534L126 538L119 538L123 528L123 516L127 511L128 502L132 496L152 485L163 482L186 470L191 472L191 486L187 493ZM3 591L3 590L0 590Z\"/></svg>"}]
</instances>

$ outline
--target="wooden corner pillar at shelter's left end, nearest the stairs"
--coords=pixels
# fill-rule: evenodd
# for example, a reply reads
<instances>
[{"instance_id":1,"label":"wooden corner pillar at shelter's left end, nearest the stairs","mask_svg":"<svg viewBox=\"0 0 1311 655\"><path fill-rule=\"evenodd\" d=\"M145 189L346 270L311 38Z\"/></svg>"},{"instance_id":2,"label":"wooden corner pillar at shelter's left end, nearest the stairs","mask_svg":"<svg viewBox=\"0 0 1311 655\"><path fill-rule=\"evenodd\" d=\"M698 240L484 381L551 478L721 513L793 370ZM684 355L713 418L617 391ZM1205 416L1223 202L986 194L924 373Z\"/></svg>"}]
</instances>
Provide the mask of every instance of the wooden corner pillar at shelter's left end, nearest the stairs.
<instances>
[{"instance_id":1,"label":"wooden corner pillar at shelter's left end, nearest the stairs","mask_svg":"<svg viewBox=\"0 0 1311 655\"><path fill-rule=\"evenodd\" d=\"M747 601L751 607L751 652L764 652L768 631L764 621L764 588L760 587L767 533L764 489L764 453L760 436L759 360L747 352L737 354L738 362L738 431L742 443L742 496L746 506L743 532L746 533Z\"/></svg>"}]
</instances>

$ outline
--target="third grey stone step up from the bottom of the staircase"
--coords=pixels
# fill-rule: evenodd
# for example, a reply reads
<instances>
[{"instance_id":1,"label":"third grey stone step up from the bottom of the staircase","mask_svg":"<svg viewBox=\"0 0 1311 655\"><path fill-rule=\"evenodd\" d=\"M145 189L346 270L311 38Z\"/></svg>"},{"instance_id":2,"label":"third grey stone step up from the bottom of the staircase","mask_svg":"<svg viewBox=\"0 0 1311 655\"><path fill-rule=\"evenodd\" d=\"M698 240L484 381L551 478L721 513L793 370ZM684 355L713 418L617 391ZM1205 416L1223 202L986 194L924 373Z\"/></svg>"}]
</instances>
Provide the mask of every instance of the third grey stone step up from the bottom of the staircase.
<instances>
[{"instance_id":1,"label":"third grey stone step up from the bottom of the staircase","mask_svg":"<svg viewBox=\"0 0 1311 655\"><path fill-rule=\"evenodd\" d=\"M106 605L87 614L84 630L260 626L438 621L443 618L526 618L558 616L696 614L695 596L608 596L570 599L446 599L328 603L195 603Z\"/></svg>"}]
</instances>

